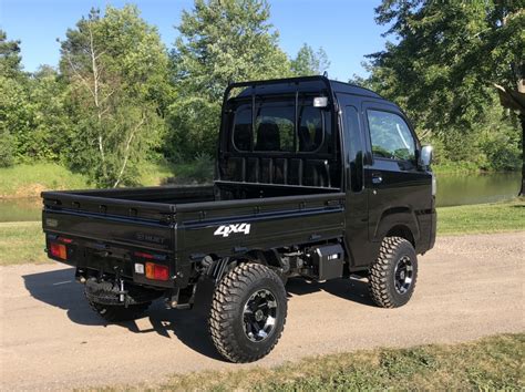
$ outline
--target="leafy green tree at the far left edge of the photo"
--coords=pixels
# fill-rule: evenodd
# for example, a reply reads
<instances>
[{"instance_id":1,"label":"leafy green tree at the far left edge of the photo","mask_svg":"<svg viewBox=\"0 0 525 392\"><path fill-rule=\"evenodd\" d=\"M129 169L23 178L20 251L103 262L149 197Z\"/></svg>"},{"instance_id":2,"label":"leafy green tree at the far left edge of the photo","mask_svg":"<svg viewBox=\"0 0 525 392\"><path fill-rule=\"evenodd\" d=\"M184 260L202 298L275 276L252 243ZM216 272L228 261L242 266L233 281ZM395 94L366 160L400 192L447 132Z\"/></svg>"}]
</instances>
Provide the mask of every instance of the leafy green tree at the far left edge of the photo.
<instances>
[{"instance_id":1,"label":"leafy green tree at the far left edge of the photo","mask_svg":"<svg viewBox=\"0 0 525 392\"><path fill-rule=\"evenodd\" d=\"M20 42L0 31L0 165L59 161L71 128L55 70L22 72Z\"/></svg>"}]
</instances>

